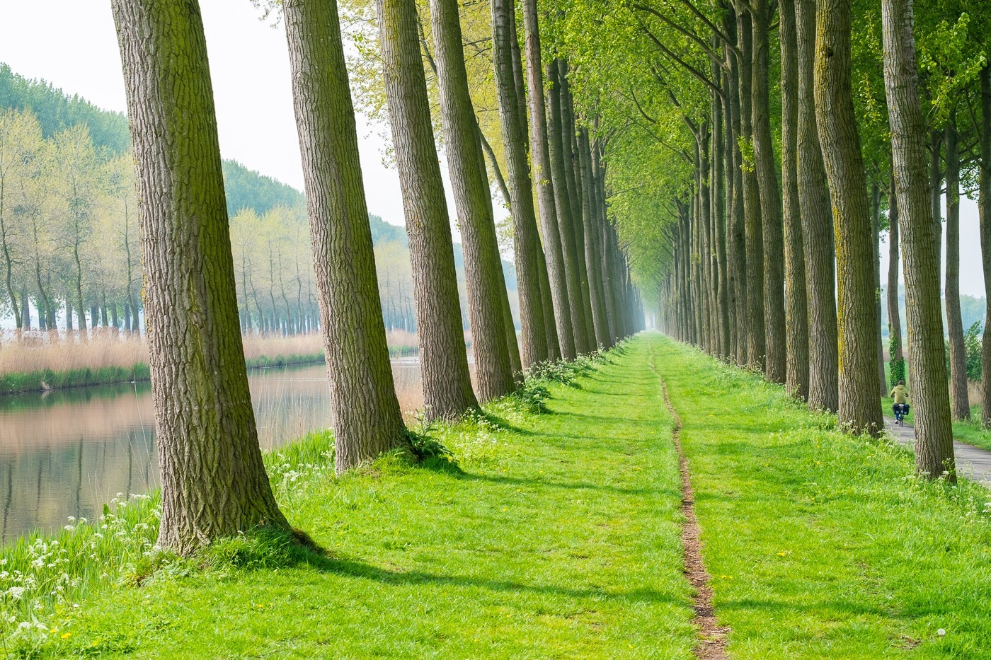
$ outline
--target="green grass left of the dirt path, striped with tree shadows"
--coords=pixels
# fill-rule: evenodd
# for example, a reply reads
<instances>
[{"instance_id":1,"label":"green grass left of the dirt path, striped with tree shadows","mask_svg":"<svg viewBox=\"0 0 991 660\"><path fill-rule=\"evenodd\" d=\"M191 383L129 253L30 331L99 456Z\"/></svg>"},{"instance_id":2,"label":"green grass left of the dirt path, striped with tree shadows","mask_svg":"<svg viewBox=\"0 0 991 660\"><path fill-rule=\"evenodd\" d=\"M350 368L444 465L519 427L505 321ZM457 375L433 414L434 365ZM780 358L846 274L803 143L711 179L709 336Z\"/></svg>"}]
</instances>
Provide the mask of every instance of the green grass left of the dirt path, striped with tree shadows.
<instances>
[{"instance_id":1,"label":"green grass left of the dirt path, striped with tree shadows","mask_svg":"<svg viewBox=\"0 0 991 660\"><path fill-rule=\"evenodd\" d=\"M276 496L324 553L258 534L193 560L152 553L5 643L36 657L691 658L649 349L429 429L458 468L392 455L337 478L328 437L280 450Z\"/></svg>"}]
</instances>

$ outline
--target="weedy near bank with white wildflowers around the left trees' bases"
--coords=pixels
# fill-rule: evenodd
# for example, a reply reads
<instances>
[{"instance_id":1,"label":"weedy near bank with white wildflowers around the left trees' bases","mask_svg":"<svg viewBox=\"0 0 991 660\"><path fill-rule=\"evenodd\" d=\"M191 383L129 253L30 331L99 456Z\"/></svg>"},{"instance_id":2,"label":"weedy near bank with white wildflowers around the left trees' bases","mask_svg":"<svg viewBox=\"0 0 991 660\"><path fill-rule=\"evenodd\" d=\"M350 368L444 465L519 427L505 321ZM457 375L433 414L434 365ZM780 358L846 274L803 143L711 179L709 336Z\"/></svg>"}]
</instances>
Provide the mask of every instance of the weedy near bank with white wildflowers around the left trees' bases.
<instances>
[{"instance_id":1,"label":"weedy near bank with white wildflowers around the left trees' bases","mask_svg":"<svg viewBox=\"0 0 991 660\"><path fill-rule=\"evenodd\" d=\"M546 400L553 397L551 385L577 386L575 382L590 374L597 365L609 362L610 356L622 354L626 342L612 349L579 356L570 363L541 364L530 372L515 391L485 404L485 411L466 413L461 419L433 422L415 429L417 435L444 447L454 435L492 432L489 411L509 413L520 418L548 413ZM431 443L434 444L434 443ZM422 463L427 469L458 470L456 463L444 458ZM349 471L345 477L334 476L334 435L332 429L312 431L284 445L263 452L266 471L276 497L290 496L293 490L323 479L358 478L377 475L397 465L418 466L414 456L404 448L388 452L372 463ZM445 465L439 465L445 464ZM284 502L283 502L283 505ZM103 505L99 519L66 518L60 531L35 530L11 543L0 545L0 637L4 642L27 642L38 650L57 637L58 629L41 621L63 615L84 600L108 589L140 586L154 574L184 575L189 566L209 566L214 555L254 555L286 551L284 539L266 530L253 530L233 539L221 539L189 559L176 557L156 546L161 516L161 492L117 494ZM255 531L259 531L255 534ZM242 547L244 546L244 547ZM275 548L275 550L273 549ZM305 549L303 550L305 552ZM274 557L275 557L274 555ZM270 558L272 559L272 558ZM275 557L276 561L281 561ZM191 562L191 563L190 563ZM249 563L254 562L252 559ZM264 563L264 562L263 562ZM233 562L240 568L251 568ZM11 580L20 581L13 586ZM20 615L16 615L19 612ZM62 639L67 637L62 636Z\"/></svg>"}]
</instances>

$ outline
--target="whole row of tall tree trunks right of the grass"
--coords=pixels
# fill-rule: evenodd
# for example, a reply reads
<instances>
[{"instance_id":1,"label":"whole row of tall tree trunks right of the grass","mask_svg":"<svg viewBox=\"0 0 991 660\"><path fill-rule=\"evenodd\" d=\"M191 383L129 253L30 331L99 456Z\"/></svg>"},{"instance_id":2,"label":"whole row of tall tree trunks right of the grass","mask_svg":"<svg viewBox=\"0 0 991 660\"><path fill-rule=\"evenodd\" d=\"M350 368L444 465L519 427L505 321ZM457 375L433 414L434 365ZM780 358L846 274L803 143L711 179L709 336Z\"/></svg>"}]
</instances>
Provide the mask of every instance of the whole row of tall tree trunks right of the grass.
<instances>
[{"instance_id":1,"label":"whole row of tall tree trunks right of the grass","mask_svg":"<svg viewBox=\"0 0 991 660\"><path fill-rule=\"evenodd\" d=\"M673 259L661 286L662 323L679 339L760 370L811 408L837 412L850 430L876 434L883 428L878 394L887 389L878 297L882 192L876 185L868 190L857 134L850 4L782 0L779 7L782 187L768 119L767 44L774 16L766 2L739 2L735 22L712 25L719 44L709 80L712 111L707 122L691 126L697 143L695 183L676 200L678 218L669 230ZM891 332L897 338L893 348L900 357L900 247L909 300L917 466L931 478L948 473L952 479L940 227L931 195L934 187L939 189L939 174L931 182L927 171L911 2L884 0L882 9L892 128L888 289ZM985 118L991 115L987 103ZM991 132L984 136L984 149L991 149ZM947 232L948 240L958 243L954 145L955 136L947 131L945 175L947 198L952 198ZM981 173L986 186L984 161ZM981 199L986 211L983 191ZM984 217L982 236L989 233ZM958 317L958 273L951 268L946 283L947 305L955 305ZM952 312L948 318L951 347L959 344L962 350L962 329L954 339ZM987 337L986 354L991 351ZM955 356L951 364L958 370L962 362ZM953 399L960 408L957 415L965 415L965 375L962 381L954 378Z\"/></svg>"}]
</instances>

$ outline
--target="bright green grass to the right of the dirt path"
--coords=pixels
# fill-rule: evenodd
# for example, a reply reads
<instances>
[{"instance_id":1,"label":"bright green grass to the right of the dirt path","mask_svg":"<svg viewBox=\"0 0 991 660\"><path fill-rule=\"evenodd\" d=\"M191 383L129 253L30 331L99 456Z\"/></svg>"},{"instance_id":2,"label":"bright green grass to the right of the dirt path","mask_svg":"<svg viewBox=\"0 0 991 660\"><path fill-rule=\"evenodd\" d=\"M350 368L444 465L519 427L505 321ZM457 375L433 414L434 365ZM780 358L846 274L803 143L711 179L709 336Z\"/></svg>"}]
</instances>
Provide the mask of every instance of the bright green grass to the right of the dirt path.
<instances>
[{"instance_id":1,"label":"bright green grass to the right of the dirt path","mask_svg":"<svg viewBox=\"0 0 991 660\"><path fill-rule=\"evenodd\" d=\"M731 657L991 657L987 490L921 482L907 450L646 341L684 423Z\"/></svg>"}]
</instances>

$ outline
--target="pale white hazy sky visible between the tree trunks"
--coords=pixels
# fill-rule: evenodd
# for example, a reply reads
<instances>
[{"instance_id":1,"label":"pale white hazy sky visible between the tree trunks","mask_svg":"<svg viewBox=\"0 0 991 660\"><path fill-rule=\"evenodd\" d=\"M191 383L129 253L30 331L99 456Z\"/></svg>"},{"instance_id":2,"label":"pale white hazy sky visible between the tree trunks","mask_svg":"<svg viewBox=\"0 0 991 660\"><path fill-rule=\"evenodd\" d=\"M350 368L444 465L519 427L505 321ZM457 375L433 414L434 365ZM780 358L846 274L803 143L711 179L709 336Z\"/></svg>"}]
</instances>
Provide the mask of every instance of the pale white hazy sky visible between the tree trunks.
<instances>
[{"instance_id":1,"label":"pale white hazy sky visible between the tree trunks","mask_svg":"<svg viewBox=\"0 0 991 660\"><path fill-rule=\"evenodd\" d=\"M302 189L282 28L262 22L249 0L200 0L200 6L224 158ZM0 61L101 107L126 109L109 0L4 0ZM362 117L358 134L369 210L401 225L398 175L382 165L382 142ZM441 162L446 173L443 158ZM450 192L448 199L453 214ZM976 204L963 200L961 216L960 290L982 296ZM881 252L886 274L886 245Z\"/></svg>"}]
</instances>

